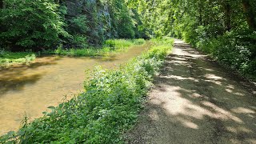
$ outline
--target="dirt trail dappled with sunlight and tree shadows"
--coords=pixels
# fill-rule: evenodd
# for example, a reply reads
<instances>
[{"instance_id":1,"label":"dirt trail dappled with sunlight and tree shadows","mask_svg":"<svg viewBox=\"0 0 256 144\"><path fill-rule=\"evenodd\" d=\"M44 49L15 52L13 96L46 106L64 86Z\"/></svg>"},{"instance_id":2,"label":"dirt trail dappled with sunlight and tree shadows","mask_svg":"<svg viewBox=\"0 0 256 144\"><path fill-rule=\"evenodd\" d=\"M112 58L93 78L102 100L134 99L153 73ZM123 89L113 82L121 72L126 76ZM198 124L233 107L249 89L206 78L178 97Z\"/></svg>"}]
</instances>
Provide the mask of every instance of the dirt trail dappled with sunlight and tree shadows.
<instances>
[{"instance_id":1,"label":"dirt trail dappled with sunlight and tree shadows","mask_svg":"<svg viewBox=\"0 0 256 144\"><path fill-rule=\"evenodd\" d=\"M128 143L256 143L256 86L180 40Z\"/></svg>"}]
</instances>

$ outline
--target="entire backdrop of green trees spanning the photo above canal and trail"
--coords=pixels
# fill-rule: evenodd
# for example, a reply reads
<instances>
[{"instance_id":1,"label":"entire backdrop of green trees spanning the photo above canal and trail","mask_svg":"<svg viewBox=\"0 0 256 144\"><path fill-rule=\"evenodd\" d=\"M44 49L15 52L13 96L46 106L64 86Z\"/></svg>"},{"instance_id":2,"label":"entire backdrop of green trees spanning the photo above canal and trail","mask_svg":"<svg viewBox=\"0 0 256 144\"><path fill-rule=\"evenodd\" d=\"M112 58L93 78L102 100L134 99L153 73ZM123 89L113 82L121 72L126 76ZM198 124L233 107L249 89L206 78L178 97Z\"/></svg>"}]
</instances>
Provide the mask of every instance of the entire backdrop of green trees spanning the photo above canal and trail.
<instances>
[{"instance_id":1,"label":"entire backdrop of green trees spanning the photo above canal and trail","mask_svg":"<svg viewBox=\"0 0 256 144\"><path fill-rule=\"evenodd\" d=\"M169 35L243 74L256 72L253 0L4 0L0 10L4 49L85 48L110 38Z\"/></svg>"}]
</instances>

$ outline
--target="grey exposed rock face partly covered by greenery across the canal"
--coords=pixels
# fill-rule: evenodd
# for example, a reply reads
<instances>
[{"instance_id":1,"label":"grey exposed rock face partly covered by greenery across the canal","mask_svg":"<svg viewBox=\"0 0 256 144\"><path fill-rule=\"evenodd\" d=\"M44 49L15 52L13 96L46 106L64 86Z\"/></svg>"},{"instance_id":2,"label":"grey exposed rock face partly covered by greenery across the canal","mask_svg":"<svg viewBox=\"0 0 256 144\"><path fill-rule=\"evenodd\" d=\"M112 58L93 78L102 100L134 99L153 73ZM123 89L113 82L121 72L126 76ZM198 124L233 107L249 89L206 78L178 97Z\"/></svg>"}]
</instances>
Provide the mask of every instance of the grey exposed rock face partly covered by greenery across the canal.
<instances>
[{"instance_id":1,"label":"grey exposed rock face partly covered by greenery across the canal","mask_svg":"<svg viewBox=\"0 0 256 144\"><path fill-rule=\"evenodd\" d=\"M106 38L112 38L110 9L100 0L66 0L67 19L85 15L88 26L88 42L93 45L101 44Z\"/></svg>"}]
</instances>

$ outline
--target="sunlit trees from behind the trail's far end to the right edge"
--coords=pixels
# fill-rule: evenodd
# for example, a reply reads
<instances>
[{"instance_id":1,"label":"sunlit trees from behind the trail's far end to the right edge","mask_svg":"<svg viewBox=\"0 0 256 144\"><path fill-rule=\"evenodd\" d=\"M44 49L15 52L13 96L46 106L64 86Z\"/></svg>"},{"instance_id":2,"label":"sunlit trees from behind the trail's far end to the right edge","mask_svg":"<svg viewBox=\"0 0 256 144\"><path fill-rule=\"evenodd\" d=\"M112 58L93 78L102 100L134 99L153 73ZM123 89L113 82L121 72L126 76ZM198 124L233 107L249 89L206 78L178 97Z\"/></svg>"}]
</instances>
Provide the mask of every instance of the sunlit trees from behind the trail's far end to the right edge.
<instances>
[{"instance_id":1,"label":"sunlit trees from behind the trail's far end to the right edge","mask_svg":"<svg viewBox=\"0 0 256 144\"><path fill-rule=\"evenodd\" d=\"M256 74L256 1L129 0L150 34L183 38L218 62Z\"/></svg>"}]
</instances>

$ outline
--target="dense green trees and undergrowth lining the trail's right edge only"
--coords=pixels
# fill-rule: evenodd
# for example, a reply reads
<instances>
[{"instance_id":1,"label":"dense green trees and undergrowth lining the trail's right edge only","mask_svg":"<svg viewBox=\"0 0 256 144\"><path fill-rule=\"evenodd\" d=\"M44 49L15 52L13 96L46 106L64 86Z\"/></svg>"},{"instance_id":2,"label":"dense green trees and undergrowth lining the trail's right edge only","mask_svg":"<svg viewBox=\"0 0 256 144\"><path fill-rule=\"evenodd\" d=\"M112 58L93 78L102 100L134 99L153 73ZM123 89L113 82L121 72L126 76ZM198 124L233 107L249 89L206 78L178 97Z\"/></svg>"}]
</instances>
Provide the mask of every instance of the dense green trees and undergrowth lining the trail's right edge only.
<instances>
[{"instance_id":1,"label":"dense green trees and undergrowth lining the trail's right edge only","mask_svg":"<svg viewBox=\"0 0 256 144\"><path fill-rule=\"evenodd\" d=\"M184 1L174 4L174 33L243 74L256 73L256 2Z\"/></svg>"}]
</instances>

